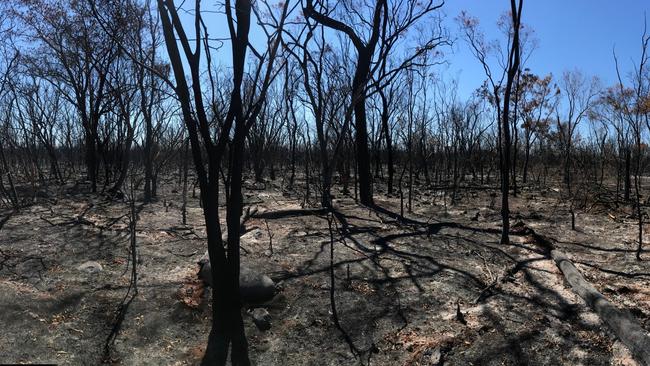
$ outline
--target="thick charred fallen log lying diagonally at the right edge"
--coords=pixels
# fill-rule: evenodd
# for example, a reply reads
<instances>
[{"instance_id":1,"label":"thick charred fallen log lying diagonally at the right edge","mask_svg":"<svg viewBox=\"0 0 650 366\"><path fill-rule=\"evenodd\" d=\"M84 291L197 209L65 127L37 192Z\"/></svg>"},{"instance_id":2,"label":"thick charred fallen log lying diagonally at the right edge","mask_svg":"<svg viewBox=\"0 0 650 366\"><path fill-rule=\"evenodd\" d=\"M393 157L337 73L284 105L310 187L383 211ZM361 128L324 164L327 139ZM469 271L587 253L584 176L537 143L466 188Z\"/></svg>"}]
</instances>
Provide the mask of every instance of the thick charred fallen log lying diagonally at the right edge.
<instances>
[{"instance_id":1,"label":"thick charred fallen log lying diagonally at the right edge","mask_svg":"<svg viewBox=\"0 0 650 366\"><path fill-rule=\"evenodd\" d=\"M634 358L643 365L650 365L650 337L626 310L617 308L582 276L580 271L561 251L554 249L551 257L564 274L564 278L589 307L610 327L625 344Z\"/></svg>"}]
</instances>

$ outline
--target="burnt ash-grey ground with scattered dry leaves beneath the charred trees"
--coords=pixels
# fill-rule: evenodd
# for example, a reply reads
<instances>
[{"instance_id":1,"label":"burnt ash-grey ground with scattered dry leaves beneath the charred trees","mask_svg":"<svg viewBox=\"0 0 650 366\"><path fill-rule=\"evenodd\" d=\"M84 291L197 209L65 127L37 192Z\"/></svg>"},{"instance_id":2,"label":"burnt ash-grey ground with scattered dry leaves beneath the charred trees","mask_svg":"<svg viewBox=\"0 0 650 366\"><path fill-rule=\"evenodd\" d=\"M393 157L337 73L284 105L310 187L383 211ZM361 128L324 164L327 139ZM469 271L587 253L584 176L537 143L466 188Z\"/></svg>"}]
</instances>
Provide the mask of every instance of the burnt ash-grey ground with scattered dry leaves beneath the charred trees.
<instances>
[{"instance_id":1,"label":"burnt ash-grey ground with scattered dry leaves beneath the charred trees","mask_svg":"<svg viewBox=\"0 0 650 366\"><path fill-rule=\"evenodd\" d=\"M326 214L289 211L301 200L270 184L248 191L260 212L286 211L253 217L242 237L242 261L281 288L265 305L270 330L246 316L255 364L635 364L542 248L524 235L499 244L491 192L463 191L454 206L416 193L414 212L399 221L397 198L379 193L385 210L375 210L337 192L335 298L349 344L332 321ZM161 194L140 212L139 293L111 347L117 364L196 364L207 340L210 292L201 295L196 279L202 211L190 199L183 227L180 195ZM64 190L50 197L0 213L0 363L98 364L129 284L128 205ZM573 231L554 190L524 190L511 204L513 223L556 239L599 291L650 329L650 269L635 260L632 218L579 211ZM88 261L102 269L79 269Z\"/></svg>"}]
</instances>

